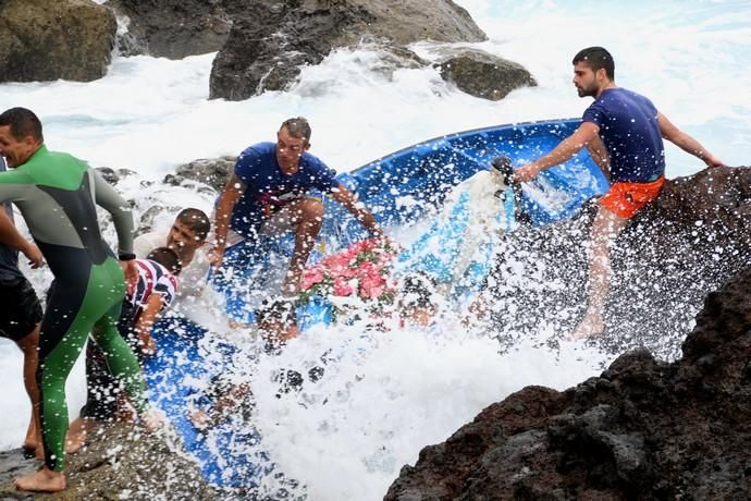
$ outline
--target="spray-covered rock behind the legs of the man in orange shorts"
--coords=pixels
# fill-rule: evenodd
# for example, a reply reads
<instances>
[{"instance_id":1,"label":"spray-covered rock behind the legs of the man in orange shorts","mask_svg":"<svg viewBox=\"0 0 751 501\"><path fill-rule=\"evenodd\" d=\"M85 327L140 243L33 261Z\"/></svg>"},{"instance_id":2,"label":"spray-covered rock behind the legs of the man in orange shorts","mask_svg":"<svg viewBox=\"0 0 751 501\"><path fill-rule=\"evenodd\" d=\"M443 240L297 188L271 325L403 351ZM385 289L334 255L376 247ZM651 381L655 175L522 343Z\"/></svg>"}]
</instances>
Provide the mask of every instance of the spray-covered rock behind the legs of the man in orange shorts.
<instances>
[{"instance_id":1,"label":"spray-covered rock behind the legs of the man in orange shorts","mask_svg":"<svg viewBox=\"0 0 751 501\"><path fill-rule=\"evenodd\" d=\"M492 330L504 344L541 323L563 337L579 320L595 208L586 206L573 220L522 228L498 244L489 294ZM749 264L750 216L749 168L668 180L615 243L607 331L595 342L613 353L647 346L664 358L678 356L706 292Z\"/></svg>"}]
</instances>

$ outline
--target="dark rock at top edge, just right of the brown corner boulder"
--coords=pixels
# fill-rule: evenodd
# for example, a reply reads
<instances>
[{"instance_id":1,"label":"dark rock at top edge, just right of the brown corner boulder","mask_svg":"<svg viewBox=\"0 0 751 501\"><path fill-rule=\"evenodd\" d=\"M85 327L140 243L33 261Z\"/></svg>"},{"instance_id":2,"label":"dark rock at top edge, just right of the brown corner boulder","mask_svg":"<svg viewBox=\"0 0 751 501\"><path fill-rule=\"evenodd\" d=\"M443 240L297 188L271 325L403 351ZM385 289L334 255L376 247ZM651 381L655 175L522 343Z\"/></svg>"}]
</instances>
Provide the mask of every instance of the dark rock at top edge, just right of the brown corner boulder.
<instances>
[{"instance_id":1,"label":"dark rock at top edge, just right of the brown corner boulder","mask_svg":"<svg viewBox=\"0 0 751 501\"><path fill-rule=\"evenodd\" d=\"M120 40L125 54L182 59L214 52L232 27L232 0L109 0L107 7L128 19Z\"/></svg>"}]
</instances>

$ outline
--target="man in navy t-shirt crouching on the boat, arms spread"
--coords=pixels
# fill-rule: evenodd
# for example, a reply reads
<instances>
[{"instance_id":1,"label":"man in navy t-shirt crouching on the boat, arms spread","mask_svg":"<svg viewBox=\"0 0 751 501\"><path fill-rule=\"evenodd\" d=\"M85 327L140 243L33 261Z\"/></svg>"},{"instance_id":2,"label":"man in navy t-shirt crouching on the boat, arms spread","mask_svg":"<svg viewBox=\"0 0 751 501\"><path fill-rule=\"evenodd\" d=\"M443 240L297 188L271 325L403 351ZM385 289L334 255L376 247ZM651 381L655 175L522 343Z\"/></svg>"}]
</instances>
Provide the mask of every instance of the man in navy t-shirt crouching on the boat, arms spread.
<instances>
[{"instance_id":1,"label":"man in navy t-shirt crouching on the boat, arms spread","mask_svg":"<svg viewBox=\"0 0 751 501\"><path fill-rule=\"evenodd\" d=\"M383 236L372 213L334 179L333 170L307 152L309 148L310 125L298 117L282 123L276 143L258 143L239 155L217 201L214 266L222 264L224 250L232 245L294 231L295 249L282 292L296 294L323 223L323 203L306 196L311 190L331 195L371 233Z\"/></svg>"}]
</instances>

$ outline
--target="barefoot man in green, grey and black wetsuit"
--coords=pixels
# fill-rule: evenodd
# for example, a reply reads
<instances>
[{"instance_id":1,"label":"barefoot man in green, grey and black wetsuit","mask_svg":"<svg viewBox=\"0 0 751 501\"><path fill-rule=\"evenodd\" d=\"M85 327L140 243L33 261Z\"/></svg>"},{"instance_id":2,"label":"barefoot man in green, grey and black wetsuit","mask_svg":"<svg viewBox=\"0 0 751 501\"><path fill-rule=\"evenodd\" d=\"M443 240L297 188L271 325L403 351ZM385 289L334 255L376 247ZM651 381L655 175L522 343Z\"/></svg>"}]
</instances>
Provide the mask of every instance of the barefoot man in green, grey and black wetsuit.
<instances>
[{"instance_id":1,"label":"barefoot man in green, grey and black wetsuit","mask_svg":"<svg viewBox=\"0 0 751 501\"><path fill-rule=\"evenodd\" d=\"M134 407L140 414L148 405L138 362L115 327L125 277L137 278L133 218L128 204L85 162L47 149L39 119L25 108L0 114L0 155L12 169L0 173L0 203L19 207L54 276L41 321L37 370L45 467L15 484L22 490L54 492L66 486L65 380L95 325L101 328L95 341ZM120 261L102 240L97 205L112 215ZM0 218L0 237L13 234L9 224L8 218Z\"/></svg>"}]
</instances>

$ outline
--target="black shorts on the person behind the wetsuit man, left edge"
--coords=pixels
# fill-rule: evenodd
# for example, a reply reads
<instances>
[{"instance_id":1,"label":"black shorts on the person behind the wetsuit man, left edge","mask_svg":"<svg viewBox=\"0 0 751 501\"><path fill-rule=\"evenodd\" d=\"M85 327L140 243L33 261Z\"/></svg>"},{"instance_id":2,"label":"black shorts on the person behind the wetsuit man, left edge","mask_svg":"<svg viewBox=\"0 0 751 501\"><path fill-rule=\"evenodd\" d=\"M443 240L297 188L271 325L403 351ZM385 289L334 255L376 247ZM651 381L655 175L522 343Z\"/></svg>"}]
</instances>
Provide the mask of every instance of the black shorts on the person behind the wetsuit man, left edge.
<instances>
[{"instance_id":1,"label":"black shorts on the person behind the wetsuit man, left edge","mask_svg":"<svg viewBox=\"0 0 751 501\"><path fill-rule=\"evenodd\" d=\"M41 305L28 280L0 283L0 337L21 341L41 321Z\"/></svg>"}]
</instances>

